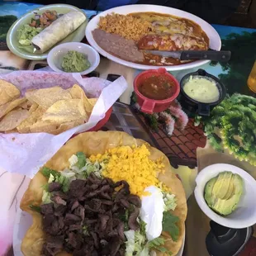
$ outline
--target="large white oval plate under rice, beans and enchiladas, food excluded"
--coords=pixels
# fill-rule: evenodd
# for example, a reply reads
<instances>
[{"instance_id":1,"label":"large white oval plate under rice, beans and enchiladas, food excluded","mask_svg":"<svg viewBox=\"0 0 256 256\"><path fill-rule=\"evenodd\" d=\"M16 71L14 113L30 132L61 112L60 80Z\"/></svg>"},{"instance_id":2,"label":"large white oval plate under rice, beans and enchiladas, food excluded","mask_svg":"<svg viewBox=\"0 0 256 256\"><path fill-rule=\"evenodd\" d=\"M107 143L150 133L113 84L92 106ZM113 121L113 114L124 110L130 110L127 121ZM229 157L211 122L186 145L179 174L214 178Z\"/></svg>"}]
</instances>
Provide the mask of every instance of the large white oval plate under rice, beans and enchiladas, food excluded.
<instances>
[{"instance_id":1,"label":"large white oval plate under rice, beans and enchiladas, food excluded","mask_svg":"<svg viewBox=\"0 0 256 256\"><path fill-rule=\"evenodd\" d=\"M122 64L130 68L147 70L147 69L159 69L159 66L135 64L133 62L117 58L114 55L107 53L107 51L103 50L99 45L97 45L97 42L94 40L92 36L92 31L97 28L97 24L100 21L100 17L104 17L107 14L111 14L112 12L116 12L119 14L129 14L132 12L159 12L159 13L174 15L177 17L184 17L184 18L187 18L188 20L196 22L199 26L201 26L201 29L206 32L206 35L210 39L210 49L220 50L221 48L220 36L218 32L209 23L207 23L206 21L202 20L200 17L197 17L191 13L183 12L175 8L163 7L159 5L150 5L150 4L136 4L136 5L126 5L122 7L115 7L105 12L101 12L96 17L93 17L91 21L88 22L88 26L86 27L86 30L85 30L85 35L88 39L88 42L101 55L107 57L107 59L111 59L112 61L118 64ZM164 66L164 68L167 69L168 71L192 69L197 66L201 66L202 64L206 64L208 62L210 62L210 60L197 60L187 64Z\"/></svg>"}]
</instances>

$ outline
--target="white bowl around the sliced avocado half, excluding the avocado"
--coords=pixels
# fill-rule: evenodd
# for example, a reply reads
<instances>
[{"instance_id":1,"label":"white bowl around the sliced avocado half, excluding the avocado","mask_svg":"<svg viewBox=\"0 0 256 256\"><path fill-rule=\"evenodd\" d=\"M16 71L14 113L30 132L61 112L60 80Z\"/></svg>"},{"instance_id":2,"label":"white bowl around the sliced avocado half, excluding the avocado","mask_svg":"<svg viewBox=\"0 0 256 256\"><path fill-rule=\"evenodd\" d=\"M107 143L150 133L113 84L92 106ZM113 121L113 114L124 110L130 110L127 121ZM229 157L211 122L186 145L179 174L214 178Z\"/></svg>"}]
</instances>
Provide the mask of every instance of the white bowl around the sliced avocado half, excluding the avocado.
<instances>
[{"instance_id":1,"label":"white bowl around the sliced avocado half, excluding the avocado","mask_svg":"<svg viewBox=\"0 0 256 256\"><path fill-rule=\"evenodd\" d=\"M216 214L215 211L212 211L211 208L207 206L204 198L206 183L211 178L218 176L219 173L224 171L237 173L244 180L243 195L240 197L236 210L228 216ZM231 164L212 164L201 170L197 175L196 183L195 197L197 204L200 206L201 211L211 220L233 229L243 229L256 223L256 181L249 173Z\"/></svg>"}]
</instances>

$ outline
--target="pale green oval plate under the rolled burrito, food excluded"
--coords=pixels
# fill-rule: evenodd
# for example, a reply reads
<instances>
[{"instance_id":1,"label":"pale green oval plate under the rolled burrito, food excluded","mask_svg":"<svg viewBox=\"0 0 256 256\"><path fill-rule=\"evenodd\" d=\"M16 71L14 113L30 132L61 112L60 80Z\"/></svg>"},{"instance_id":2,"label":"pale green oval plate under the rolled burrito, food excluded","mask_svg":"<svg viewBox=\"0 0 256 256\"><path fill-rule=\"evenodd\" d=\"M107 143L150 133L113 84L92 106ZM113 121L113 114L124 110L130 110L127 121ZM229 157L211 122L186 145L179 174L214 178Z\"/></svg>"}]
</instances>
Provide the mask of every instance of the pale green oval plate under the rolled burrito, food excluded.
<instances>
[{"instance_id":1,"label":"pale green oval plate under the rolled burrito, food excluded","mask_svg":"<svg viewBox=\"0 0 256 256\"><path fill-rule=\"evenodd\" d=\"M9 50L12 51L14 55L18 55L23 59L31 59L31 60L38 60L38 59L46 59L47 55L50 50L46 51L44 54L32 54L27 52L24 49L21 49L19 46L19 42L17 40L17 30L25 25L29 24L31 22L31 18L34 17L34 12L37 12L39 14L45 12L46 10L55 10L57 13L67 13L71 11L78 11L83 12L77 7L73 7L68 4L50 4L44 7L36 8L32 10L31 12L27 12L24 16L22 16L20 19L15 21L12 26L10 27L8 33L7 33L7 45ZM84 14L84 12L83 12ZM80 42L83 40L84 37L84 31L85 27L87 26L88 20L84 21L81 26L78 27L73 33L71 33L69 36L64 38L64 40L59 41L59 44L66 43L66 42ZM54 45L55 46L55 45ZM53 47L54 47L53 46Z\"/></svg>"}]
</instances>

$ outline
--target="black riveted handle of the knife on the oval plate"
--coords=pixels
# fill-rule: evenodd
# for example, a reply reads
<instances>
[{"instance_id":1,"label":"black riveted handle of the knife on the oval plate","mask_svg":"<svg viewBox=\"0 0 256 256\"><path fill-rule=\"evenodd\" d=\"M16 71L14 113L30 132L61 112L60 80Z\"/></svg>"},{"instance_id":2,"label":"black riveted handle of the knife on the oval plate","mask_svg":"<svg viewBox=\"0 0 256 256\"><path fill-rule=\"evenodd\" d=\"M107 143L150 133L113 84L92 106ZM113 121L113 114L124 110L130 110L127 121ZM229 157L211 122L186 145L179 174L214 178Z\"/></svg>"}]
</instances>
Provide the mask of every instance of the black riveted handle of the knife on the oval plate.
<instances>
[{"instance_id":1,"label":"black riveted handle of the knife on the oval plate","mask_svg":"<svg viewBox=\"0 0 256 256\"><path fill-rule=\"evenodd\" d=\"M230 60L230 50L183 50L180 59L210 59L219 62Z\"/></svg>"}]
</instances>

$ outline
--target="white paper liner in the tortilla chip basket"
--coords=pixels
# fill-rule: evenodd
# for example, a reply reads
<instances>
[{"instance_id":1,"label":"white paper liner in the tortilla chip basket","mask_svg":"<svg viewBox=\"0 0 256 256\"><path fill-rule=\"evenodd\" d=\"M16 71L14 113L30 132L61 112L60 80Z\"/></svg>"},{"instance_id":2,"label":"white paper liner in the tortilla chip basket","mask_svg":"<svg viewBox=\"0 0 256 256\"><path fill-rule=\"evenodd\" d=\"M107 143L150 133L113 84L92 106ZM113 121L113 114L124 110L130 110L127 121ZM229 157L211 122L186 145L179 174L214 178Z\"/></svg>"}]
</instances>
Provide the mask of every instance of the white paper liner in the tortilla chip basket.
<instances>
[{"instance_id":1,"label":"white paper liner in the tortilla chip basket","mask_svg":"<svg viewBox=\"0 0 256 256\"><path fill-rule=\"evenodd\" d=\"M17 71L0 76L13 83L24 95L26 89L50 88L59 85L70 88L74 83L83 87L89 97L98 97L97 103L86 124L74 127L59 135L47 133L0 134L0 168L7 172L21 173L33 178L69 138L75 133L90 130L104 118L107 110L126 90L126 79L121 77L111 83L102 78L82 78L80 74L64 74L41 71Z\"/></svg>"}]
</instances>

